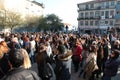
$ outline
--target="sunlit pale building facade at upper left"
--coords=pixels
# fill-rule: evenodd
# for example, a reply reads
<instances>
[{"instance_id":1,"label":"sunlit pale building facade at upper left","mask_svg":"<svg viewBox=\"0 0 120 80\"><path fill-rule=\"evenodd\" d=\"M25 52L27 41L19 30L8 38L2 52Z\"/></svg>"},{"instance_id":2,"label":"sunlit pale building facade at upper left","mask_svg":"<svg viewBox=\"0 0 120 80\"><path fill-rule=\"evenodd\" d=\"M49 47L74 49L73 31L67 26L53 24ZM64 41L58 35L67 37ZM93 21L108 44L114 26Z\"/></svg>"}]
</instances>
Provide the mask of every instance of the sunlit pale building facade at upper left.
<instances>
[{"instance_id":1,"label":"sunlit pale building facade at upper left","mask_svg":"<svg viewBox=\"0 0 120 80\"><path fill-rule=\"evenodd\" d=\"M0 0L0 10L13 11L25 18L26 16L41 16L43 15L43 4L34 0Z\"/></svg>"}]
</instances>

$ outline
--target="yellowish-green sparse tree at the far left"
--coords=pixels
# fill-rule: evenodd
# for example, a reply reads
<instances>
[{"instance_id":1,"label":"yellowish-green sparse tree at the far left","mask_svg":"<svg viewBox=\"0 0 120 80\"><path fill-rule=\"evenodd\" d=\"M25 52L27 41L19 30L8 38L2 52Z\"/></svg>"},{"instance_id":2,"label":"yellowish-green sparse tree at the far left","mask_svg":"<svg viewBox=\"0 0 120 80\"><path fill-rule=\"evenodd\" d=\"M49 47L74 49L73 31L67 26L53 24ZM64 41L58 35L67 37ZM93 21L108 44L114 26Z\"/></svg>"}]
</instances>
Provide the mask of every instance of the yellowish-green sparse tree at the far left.
<instances>
[{"instance_id":1,"label":"yellowish-green sparse tree at the far left","mask_svg":"<svg viewBox=\"0 0 120 80\"><path fill-rule=\"evenodd\" d=\"M4 10L4 16L0 16L0 24L3 28L10 28L11 32L14 27L21 25L22 19L19 13Z\"/></svg>"}]
</instances>

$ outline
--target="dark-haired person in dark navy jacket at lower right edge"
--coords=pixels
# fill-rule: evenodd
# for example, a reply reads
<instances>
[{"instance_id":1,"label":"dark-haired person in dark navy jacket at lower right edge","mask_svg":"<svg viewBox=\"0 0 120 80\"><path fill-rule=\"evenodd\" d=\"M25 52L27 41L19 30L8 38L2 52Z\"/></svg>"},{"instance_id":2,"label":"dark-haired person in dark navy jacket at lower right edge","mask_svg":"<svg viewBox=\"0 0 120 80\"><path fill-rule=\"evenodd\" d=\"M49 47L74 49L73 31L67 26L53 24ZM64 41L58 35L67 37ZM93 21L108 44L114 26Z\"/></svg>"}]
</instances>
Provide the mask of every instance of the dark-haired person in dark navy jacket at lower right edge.
<instances>
[{"instance_id":1,"label":"dark-haired person in dark navy jacket at lower right edge","mask_svg":"<svg viewBox=\"0 0 120 80\"><path fill-rule=\"evenodd\" d=\"M112 50L109 59L105 63L105 68L103 72L103 80L111 80L112 77L116 76L120 60L118 59L120 54L119 50Z\"/></svg>"}]
</instances>

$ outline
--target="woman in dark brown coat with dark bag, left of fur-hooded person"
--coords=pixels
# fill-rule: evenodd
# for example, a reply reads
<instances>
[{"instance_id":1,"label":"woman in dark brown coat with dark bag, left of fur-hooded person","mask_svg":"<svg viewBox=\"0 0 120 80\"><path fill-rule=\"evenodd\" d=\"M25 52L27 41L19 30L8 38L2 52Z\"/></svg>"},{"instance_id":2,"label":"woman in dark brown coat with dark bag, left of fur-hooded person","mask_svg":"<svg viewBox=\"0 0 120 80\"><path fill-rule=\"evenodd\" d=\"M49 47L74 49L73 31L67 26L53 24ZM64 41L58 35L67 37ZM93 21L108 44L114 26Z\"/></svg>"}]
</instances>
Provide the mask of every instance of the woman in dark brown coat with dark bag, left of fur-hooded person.
<instances>
[{"instance_id":1,"label":"woman in dark brown coat with dark bag, left of fur-hooded person","mask_svg":"<svg viewBox=\"0 0 120 80\"><path fill-rule=\"evenodd\" d=\"M46 53L46 46L41 44L38 50L39 52L36 55L36 62L39 76L42 78L42 80L50 80L53 76L53 70L50 65L50 59Z\"/></svg>"}]
</instances>

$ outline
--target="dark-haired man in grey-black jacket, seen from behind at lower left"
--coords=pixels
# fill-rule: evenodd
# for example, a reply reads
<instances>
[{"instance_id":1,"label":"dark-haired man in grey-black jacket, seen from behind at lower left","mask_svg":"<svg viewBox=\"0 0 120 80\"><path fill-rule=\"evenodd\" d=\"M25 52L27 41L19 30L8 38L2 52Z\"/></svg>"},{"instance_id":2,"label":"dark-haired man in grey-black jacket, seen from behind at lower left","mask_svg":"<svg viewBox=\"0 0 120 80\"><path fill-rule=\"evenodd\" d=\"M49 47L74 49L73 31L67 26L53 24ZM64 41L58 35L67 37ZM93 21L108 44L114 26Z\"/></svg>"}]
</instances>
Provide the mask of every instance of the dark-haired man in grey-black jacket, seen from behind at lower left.
<instances>
[{"instance_id":1,"label":"dark-haired man in grey-black jacket, seen from behind at lower left","mask_svg":"<svg viewBox=\"0 0 120 80\"><path fill-rule=\"evenodd\" d=\"M24 56L20 49L10 50L8 54L12 68L2 80L41 80L36 72L23 67Z\"/></svg>"}]
</instances>

